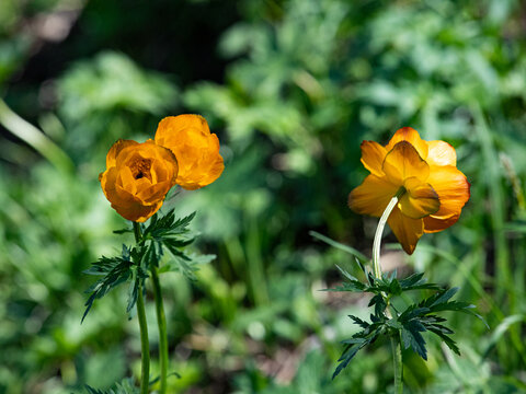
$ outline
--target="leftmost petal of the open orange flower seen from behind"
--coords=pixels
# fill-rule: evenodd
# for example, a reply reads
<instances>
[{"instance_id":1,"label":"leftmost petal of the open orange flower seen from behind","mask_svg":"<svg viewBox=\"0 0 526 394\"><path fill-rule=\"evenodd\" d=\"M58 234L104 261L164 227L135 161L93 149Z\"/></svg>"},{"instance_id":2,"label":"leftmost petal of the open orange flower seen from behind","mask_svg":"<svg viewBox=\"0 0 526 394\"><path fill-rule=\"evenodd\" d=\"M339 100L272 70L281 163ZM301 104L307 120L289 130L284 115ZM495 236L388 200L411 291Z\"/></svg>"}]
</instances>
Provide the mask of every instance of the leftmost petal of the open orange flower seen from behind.
<instances>
[{"instance_id":1,"label":"leftmost petal of the open orange flower seen from behind","mask_svg":"<svg viewBox=\"0 0 526 394\"><path fill-rule=\"evenodd\" d=\"M398 189L386 177L368 175L348 195L348 207L357 213L380 217Z\"/></svg>"}]
</instances>

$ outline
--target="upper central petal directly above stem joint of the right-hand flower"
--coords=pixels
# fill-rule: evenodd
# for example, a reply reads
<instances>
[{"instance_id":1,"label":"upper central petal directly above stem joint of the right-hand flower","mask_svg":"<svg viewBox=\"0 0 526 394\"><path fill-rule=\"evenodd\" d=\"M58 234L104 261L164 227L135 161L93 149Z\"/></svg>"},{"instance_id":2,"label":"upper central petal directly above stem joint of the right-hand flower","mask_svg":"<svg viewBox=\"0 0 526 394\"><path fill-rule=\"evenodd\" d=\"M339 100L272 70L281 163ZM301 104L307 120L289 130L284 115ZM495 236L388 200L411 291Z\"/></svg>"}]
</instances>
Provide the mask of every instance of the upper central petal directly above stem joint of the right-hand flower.
<instances>
[{"instance_id":1,"label":"upper central petal directly above stem joint of the right-hand flower","mask_svg":"<svg viewBox=\"0 0 526 394\"><path fill-rule=\"evenodd\" d=\"M430 175L430 166L408 141L398 142L387 153L382 170L389 181L400 186L409 177L414 176L424 182Z\"/></svg>"}]
</instances>

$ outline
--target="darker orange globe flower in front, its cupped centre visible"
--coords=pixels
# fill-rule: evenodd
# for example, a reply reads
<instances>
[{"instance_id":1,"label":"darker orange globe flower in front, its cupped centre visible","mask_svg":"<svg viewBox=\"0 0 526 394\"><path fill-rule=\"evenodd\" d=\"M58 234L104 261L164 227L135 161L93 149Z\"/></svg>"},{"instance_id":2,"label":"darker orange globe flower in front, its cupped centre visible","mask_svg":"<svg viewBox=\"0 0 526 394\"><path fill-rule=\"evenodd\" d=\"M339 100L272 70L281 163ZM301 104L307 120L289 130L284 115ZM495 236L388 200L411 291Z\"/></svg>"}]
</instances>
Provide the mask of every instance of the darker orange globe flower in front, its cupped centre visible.
<instances>
[{"instance_id":1,"label":"darker orange globe flower in front, its cupped centre visible","mask_svg":"<svg viewBox=\"0 0 526 394\"><path fill-rule=\"evenodd\" d=\"M106 171L99 181L113 209L125 219L144 222L161 208L176 176L178 162L169 149L151 139L118 140L107 152Z\"/></svg>"}]
</instances>

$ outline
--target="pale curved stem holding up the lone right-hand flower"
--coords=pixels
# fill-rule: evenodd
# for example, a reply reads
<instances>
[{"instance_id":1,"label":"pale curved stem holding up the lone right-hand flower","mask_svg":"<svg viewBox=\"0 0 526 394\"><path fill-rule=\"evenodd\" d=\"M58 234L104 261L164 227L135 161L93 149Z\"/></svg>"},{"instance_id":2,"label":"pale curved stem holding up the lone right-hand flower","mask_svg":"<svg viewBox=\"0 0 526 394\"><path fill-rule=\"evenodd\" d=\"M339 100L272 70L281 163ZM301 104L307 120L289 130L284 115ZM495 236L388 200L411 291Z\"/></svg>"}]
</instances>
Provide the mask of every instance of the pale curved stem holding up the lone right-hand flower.
<instances>
[{"instance_id":1,"label":"pale curved stem holding up the lone right-hand flower","mask_svg":"<svg viewBox=\"0 0 526 394\"><path fill-rule=\"evenodd\" d=\"M392 210L398 204L400 196L405 192L403 187L391 198L389 204L386 207L386 210L381 215L378 227L376 228L375 241L373 242L373 269L375 278L381 279L381 266L380 266L380 244L381 244L381 234L384 233L384 228L386 227L387 219L391 215ZM386 296L384 294L384 298ZM389 305L389 300L386 298L386 303ZM387 311L389 314L389 311ZM400 344L400 337L391 336L391 351L392 351L392 363L395 369L395 393L403 393L403 383L402 383L402 349Z\"/></svg>"}]
</instances>

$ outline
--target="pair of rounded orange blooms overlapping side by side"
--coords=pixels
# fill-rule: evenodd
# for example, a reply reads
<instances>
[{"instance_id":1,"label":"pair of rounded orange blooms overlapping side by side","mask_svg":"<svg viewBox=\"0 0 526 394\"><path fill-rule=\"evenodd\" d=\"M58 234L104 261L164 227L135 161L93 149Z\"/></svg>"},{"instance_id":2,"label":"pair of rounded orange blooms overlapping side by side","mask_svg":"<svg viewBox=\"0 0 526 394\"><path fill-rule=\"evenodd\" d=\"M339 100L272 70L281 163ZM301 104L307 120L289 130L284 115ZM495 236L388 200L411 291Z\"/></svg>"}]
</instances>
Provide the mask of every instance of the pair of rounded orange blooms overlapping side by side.
<instances>
[{"instance_id":1,"label":"pair of rounded orange blooms overlapping side by side","mask_svg":"<svg viewBox=\"0 0 526 394\"><path fill-rule=\"evenodd\" d=\"M145 222L179 184L194 190L216 181L225 169L219 140L199 115L162 119L155 140L118 140L99 175L104 195L123 218Z\"/></svg>"}]
</instances>

